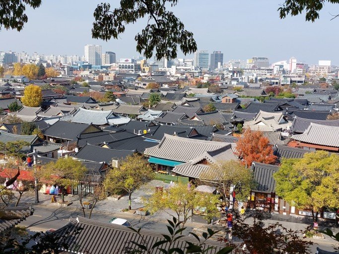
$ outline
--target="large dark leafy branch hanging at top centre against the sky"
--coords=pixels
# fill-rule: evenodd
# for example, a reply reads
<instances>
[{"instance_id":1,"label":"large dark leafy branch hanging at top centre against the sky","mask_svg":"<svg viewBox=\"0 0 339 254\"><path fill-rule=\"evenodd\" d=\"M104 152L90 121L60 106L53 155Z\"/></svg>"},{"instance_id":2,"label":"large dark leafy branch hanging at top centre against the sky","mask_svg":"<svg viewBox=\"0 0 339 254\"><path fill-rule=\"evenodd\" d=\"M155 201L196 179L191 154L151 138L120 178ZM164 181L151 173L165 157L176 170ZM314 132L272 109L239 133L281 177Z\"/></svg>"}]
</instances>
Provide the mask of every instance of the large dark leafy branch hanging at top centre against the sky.
<instances>
[{"instance_id":1,"label":"large dark leafy branch hanging at top centre against the sky","mask_svg":"<svg viewBox=\"0 0 339 254\"><path fill-rule=\"evenodd\" d=\"M176 5L178 0L122 0L121 6L110 10L109 3L98 4L94 11L95 22L92 37L109 40L119 38L125 32L125 25L146 18L147 25L135 37L136 51L150 59L160 60L177 57L177 48L187 55L197 51L193 33L185 30L184 24L165 5ZM153 21L153 22L151 22Z\"/></svg>"}]
</instances>

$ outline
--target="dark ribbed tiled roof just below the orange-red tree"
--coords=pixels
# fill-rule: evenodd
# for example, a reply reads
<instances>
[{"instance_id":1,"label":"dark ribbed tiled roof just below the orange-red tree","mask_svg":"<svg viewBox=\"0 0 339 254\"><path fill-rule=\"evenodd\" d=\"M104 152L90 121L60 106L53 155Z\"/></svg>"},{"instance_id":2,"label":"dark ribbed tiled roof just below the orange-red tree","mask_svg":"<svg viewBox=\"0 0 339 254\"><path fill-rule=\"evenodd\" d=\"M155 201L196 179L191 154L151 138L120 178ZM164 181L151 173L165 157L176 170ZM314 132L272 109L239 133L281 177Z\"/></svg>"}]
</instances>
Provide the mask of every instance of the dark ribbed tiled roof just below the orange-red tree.
<instances>
[{"instance_id":1,"label":"dark ribbed tiled roof just below the orange-red tree","mask_svg":"<svg viewBox=\"0 0 339 254\"><path fill-rule=\"evenodd\" d=\"M257 183L252 191L271 193L275 191L275 180L273 174L279 169L278 166L253 162L251 170L253 179Z\"/></svg>"}]
</instances>

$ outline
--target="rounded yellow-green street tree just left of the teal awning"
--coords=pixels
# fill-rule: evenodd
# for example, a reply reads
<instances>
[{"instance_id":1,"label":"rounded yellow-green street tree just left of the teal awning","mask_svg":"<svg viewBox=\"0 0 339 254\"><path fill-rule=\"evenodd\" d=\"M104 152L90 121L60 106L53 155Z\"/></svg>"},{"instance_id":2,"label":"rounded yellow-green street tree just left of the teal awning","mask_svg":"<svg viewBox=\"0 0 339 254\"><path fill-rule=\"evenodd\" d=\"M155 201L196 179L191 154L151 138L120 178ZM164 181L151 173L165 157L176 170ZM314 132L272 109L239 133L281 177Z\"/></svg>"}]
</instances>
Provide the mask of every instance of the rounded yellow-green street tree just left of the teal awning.
<instances>
[{"instance_id":1,"label":"rounded yellow-green street tree just left of the teal awning","mask_svg":"<svg viewBox=\"0 0 339 254\"><path fill-rule=\"evenodd\" d=\"M153 170L142 155L127 156L119 168L109 170L104 181L109 193L126 191L129 195L129 209L131 210L131 196L133 191L153 178Z\"/></svg>"}]
</instances>

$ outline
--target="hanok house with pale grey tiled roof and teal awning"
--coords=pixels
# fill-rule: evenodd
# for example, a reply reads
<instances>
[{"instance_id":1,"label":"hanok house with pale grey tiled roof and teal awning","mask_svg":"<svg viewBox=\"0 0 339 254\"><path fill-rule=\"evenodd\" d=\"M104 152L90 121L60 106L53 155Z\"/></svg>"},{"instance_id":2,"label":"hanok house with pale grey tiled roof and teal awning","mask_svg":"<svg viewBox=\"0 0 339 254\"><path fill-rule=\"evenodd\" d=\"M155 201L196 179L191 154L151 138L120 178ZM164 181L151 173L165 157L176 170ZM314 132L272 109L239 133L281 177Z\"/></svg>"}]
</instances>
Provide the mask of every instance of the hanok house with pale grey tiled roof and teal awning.
<instances>
[{"instance_id":1,"label":"hanok house with pale grey tiled roof and teal awning","mask_svg":"<svg viewBox=\"0 0 339 254\"><path fill-rule=\"evenodd\" d=\"M156 172L175 176L174 167L195 161L206 152L217 152L220 151L219 149L225 148L230 150L230 144L165 134L158 145L146 148L144 154L149 156L148 161L150 163L155 164ZM203 158L198 160L197 163L208 164L207 160ZM186 176L190 177L189 175ZM177 178L175 177L173 180L176 181Z\"/></svg>"}]
</instances>

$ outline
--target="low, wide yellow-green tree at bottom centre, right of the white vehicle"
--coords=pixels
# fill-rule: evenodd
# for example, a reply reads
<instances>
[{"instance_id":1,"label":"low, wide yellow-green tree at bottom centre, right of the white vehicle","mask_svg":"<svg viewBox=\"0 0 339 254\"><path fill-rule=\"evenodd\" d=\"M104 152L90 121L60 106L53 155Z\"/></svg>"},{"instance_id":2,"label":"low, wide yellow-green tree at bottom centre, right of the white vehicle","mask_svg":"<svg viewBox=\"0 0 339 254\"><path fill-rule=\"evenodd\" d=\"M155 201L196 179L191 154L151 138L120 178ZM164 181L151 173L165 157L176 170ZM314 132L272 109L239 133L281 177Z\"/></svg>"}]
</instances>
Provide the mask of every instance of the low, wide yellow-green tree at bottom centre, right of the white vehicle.
<instances>
[{"instance_id":1,"label":"low, wide yellow-green tree at bottom centre, right of the white vehicle","mask_svg":"<svg viewBox=\"0 0 339 254\"><path fill-rule=\"evenodd\" d=\"M206 219L218 216L218 209L216 208L218 202L217 195L198 192L190 184L178 183L164 192L155 191L151 197L145 200L145 205L150 213L158 211L168 213L167 209L171 209L184 227L187 220L192 217L192 211L196 207L205 210L204 217Z\"/></svg>"}]
</instances>

